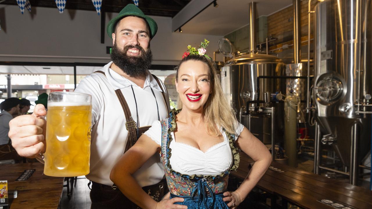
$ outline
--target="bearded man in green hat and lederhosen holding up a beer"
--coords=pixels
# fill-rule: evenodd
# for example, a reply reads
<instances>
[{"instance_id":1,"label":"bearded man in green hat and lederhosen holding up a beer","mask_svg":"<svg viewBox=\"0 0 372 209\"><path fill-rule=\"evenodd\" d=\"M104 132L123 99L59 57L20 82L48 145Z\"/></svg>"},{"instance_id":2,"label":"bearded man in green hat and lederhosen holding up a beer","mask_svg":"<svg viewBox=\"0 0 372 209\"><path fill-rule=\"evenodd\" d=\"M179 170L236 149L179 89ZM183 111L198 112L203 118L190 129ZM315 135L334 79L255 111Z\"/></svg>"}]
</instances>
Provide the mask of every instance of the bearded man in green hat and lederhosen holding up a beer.
<instances>
[{"instance_id":1,"label":"bearded man in green hat and lederhosen holding up a beer","mask_svg":"<svg viewBox=\"0 0 372 209\"><path fill-rule=\"evenodd\" d=\"M164 84L158 83L148 71L152 60L150 40L157 32L157 24L134 4L128 4L110 20L107 32L113 39L112 62L81 80L75 90L92 95L93 127L87 175L92 181L90 197L93 209L137 208L113 186L109 177L116 161L134 143L132 136L137 138L146 126L168 117L169 99ZM125 111L126 107L130 111ZM19 155L34 157L45 151L42 135L45 121L37 118L45 114L44 107L37 105L29 117L20 116L10 122L9 136ZM29 125L36 129L30 130ZM167 186L158 155L133 176L150 196L160 201Z\"/></svg>"}]
</instances>

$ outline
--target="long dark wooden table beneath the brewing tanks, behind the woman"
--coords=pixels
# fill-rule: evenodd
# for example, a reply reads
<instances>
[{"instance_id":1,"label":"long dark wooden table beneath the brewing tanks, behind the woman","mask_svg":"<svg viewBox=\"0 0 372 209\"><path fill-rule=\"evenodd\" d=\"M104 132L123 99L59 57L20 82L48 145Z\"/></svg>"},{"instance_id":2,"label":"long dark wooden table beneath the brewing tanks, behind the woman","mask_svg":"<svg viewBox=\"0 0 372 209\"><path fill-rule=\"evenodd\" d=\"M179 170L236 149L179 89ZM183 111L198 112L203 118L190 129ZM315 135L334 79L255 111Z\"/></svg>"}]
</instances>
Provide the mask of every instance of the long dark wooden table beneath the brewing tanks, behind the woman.
<instances>
[{"instance_id":1,"label":"long dark wooden table beneath the brewing tanks, behind the woman","mask_svg":"<svg viewBox=\"0 0 372 209\"><path fill-rule=\"evenodd\" d=\"M240 152L240 165L231 175L244 180L249 172L250 163L253 162L245 153ZM271 194L271 208L280 208L276 199L282 198L282 208L287 208L287 202L305 209L334 209L334 207L321 203L328 199L355 209L372 208L372 191L353 186L349 183L328 179L298 168L273 162L272 167L266 171L257 187ZM284 172L278 172L278 170Z\"/></svg>"}]
</instances>

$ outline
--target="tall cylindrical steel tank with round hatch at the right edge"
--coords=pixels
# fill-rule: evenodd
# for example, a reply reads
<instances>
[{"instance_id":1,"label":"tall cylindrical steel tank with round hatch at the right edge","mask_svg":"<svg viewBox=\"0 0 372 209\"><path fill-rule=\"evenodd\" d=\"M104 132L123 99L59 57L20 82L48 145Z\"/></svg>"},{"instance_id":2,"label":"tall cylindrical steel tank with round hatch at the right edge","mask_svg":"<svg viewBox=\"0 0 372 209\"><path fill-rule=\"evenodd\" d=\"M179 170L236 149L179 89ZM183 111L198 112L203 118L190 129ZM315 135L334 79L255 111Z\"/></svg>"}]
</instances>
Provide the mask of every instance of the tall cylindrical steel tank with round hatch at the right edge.
<instances>
[{"instance_id":1,"label":"tall cylindrical steel tank with round hatch at the right edge","mask_svg":"<svg viewBox=\"0 0 372 209\"><path fill-rule=\"evenodd\" d=\"M327 0L315 7L315 115L323 141L334 140L346 166L353 138L357 162L371 141L370 116L356 114L356 104L372 91L371 22L371 0ZM354 124L358 131L352 136Z\"/></svg>"}]
</instances>

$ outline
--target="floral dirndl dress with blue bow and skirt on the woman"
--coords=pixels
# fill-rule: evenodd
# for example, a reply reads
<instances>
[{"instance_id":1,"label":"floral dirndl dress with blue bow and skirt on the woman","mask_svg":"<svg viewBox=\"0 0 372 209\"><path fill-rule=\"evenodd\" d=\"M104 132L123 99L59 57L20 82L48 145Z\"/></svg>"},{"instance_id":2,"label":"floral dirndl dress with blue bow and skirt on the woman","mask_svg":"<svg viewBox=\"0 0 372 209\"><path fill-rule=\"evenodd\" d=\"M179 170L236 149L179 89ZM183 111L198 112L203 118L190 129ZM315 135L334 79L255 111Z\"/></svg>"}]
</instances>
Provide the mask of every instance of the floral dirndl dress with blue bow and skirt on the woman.
<instances>
[{"instance_id":1,"label":"floral dirndl dress with blue bow and skirt on the woman","mask_svg":"<svg viewBox=\"0 0 372 209\"><path fill-rule=\"evenodd\" d=\"M171 110L170 117L161 120L161 161L163 163L165 176L170 191L170 198L182 197L184 202L174 204L186 205L188 209L228 209L222 200L223 193L227 190L228 175L231 170L237 170L239 166L239 152L234 147L233 134L225 131L233 155L233 163L227 171L217 176L185 175L171 168L169 158L171 157L170 142L173 140L171 132L176 129L175 116L179 110Z\"/></svg>"}]
</instances>

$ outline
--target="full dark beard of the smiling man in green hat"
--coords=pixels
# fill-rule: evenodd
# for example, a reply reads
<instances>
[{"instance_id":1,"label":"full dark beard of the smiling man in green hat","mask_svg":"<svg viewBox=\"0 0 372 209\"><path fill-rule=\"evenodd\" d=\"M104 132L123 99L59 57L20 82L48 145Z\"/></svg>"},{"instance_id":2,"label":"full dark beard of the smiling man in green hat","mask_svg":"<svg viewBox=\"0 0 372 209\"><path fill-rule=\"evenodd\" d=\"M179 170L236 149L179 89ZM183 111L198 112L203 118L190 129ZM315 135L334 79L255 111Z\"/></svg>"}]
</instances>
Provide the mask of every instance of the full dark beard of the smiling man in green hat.
<instances>
[{"instance_id":1,"label":"full dark beard of the smiling man in green hat","mask_svg":"<svg viewBox=\"0 0 372 209\"><path fill-rule=\"evenodd\" d=\"M141 51L141 55L139 57L131 57L126 55L126 52L129 48L139 49ZM145 52L141 46L133 45L125 46L121 51L115 43L112 46L111 60L130 77L141 77L145 75L148 69L150 69L153 54L151 53L150 48L148 48L147 52Z\"/></svg>"}]
</instances>

